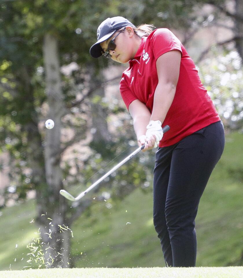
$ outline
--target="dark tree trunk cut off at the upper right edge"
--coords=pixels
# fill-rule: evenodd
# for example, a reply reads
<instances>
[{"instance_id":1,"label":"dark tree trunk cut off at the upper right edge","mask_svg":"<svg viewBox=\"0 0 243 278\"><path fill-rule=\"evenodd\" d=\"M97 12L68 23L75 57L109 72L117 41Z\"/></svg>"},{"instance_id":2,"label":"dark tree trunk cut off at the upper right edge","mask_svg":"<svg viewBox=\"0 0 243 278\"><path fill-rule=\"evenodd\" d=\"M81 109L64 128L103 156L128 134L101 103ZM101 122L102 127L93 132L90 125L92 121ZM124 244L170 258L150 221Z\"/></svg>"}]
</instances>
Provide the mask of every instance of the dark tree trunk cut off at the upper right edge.
<instances>
[{"instance_id":1,"label":"dark tree trunk cut off at the upper right edge","mask_svg":"<svg viewBox=\"0 0 243 278\"><path fill-rule=\"evenodd\" d=\"M243 1L235 0L235 12L240 17L243 15ZM236 40L236 48L240 54L241 60L243 61L243 21L235 19L236 32L239 38Z\"/></svg>"}]
</instances>

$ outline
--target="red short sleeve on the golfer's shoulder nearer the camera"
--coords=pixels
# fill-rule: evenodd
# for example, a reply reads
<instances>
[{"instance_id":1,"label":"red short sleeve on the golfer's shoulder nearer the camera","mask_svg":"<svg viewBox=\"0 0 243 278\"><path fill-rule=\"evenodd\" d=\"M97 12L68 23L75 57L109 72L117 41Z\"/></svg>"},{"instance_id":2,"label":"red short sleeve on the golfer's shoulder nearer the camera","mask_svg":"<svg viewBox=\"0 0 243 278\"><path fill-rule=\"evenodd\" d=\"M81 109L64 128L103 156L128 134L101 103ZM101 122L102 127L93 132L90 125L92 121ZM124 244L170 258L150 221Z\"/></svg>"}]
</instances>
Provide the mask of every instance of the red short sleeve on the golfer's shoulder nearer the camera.
<instances>
[{"instance_id":1,"label":"red short sleeve on the golfer's shoulder nearer the camera","mask_svg":"<svg viewBox=\"0 0 243 278\"><path fill-rule=\"evenodd\" d=\"M171 50L179 50L182 54L181 42L166 28L159 28L153 32L151 36L151 47L155 60L162 54Z\"/></svg>"}]
</instances>

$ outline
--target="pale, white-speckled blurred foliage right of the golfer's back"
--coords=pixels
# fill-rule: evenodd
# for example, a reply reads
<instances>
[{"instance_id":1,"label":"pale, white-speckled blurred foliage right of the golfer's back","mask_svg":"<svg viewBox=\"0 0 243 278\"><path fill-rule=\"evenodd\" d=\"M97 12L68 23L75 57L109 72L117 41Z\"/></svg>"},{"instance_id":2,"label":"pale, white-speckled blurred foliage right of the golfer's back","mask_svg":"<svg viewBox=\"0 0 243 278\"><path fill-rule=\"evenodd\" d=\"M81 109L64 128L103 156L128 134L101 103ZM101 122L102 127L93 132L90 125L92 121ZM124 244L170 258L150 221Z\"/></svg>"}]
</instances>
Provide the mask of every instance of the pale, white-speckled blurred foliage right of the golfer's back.
<instances>
[{"instance_id":1,"label":"pale, white-speckled blurred foliage right of the golfer's back","mask_svg":"<svg viewBox=\"0 0 243 278\"><path fill-rule=\"evenodd\" d=\"M243 127L243 69L241 58L236 51L213 56L200 64L199 74L208 94L211 96L225 127Z\"/></svg>"}]
</instances>

